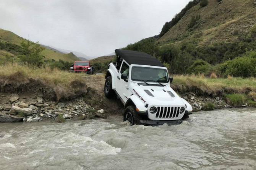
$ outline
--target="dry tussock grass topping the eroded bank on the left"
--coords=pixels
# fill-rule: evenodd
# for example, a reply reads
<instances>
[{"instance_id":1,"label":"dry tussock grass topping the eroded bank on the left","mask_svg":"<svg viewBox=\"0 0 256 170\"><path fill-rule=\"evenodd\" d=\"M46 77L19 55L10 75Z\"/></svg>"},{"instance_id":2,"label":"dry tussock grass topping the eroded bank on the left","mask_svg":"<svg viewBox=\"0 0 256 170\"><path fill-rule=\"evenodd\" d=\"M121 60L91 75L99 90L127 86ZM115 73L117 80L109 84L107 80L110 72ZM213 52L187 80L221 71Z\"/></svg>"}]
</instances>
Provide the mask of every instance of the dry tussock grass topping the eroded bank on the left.
<instances>
[{"instance_id":1,"label":"dry tussock grass topping the eroded bank on the left","mask_svg":"<svg viewBox=\"0 0 256 170\"><path fill-rule=\"evenodd\" d=\"M7 89L8 88L8 89ZM43 90L54 93L56 100L70 99L87 93L85 80L81 75L58 69L29 68L18 64L0 65L1 91ZM47 96L47 95L46 95Z\"/></svg>"}]
</instances>

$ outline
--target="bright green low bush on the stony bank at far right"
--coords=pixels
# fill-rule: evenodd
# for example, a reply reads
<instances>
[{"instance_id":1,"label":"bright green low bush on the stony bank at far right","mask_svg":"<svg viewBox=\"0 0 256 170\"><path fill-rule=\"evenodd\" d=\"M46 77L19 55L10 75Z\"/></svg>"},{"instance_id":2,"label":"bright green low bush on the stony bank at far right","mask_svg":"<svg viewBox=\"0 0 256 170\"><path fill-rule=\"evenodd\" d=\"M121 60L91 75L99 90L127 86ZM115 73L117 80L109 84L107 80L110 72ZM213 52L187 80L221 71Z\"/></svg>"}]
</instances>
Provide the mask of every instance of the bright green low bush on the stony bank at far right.
<instances>
[{"instance_id":1,"label":"bright green low bush on the stony bank at far right","mask_svg":"<svg viewBox=\"0 0 256 170\"><path fill-rule=\"evenodd\" d=\"M240 107L245 104L246 96L244 94L226 94L226 100L233 107Z\"/></svg>"}]
</instances>

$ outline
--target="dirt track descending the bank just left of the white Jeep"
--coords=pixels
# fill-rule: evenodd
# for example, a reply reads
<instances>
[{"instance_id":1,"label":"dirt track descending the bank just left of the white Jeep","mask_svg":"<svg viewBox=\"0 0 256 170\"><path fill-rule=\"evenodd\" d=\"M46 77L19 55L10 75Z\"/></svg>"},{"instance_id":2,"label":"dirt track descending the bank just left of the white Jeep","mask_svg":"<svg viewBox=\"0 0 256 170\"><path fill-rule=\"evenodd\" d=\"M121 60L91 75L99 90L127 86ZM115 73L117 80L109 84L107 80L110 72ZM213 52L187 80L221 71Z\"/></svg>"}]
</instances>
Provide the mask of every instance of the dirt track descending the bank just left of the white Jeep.
<instances>
[{"instance_id":1,"label":"dirt track descending the bank just left of the white Jeep","mask_svg":"<svg viewBox=\"0 0 256 170\"><path fill-rule=\"evenodd\" d=\"M88 87L92 88L92 100L97 101L96 106L103 108L107 115L122 114L123 104L116 97L107 99L104 94L104 76L84 76Z\"/></svg>"}]
</instances>

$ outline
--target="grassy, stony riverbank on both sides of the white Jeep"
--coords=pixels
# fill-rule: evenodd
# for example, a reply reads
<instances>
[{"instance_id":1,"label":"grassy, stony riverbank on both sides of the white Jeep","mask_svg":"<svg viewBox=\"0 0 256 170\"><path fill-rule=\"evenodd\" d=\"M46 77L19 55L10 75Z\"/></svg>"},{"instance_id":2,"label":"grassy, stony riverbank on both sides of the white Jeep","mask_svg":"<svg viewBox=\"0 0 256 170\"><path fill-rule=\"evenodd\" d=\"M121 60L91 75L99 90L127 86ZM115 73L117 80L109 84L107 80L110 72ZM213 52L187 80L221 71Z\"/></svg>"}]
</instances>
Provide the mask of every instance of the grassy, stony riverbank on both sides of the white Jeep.
<instances>
[{"instance_id":1,"label":"grassy, stony riverbank on both sides of the white Jeep","mask_svg":"<svg viewBox=\"0 0 256 170\"><path fill-rule=\"evenodd\" d=\"M62 122L71 118L107 118L124 112L118 99L104 96L102 75L20 65L1 66L0 70L0 122ZM256 106L255 78L173 75L171 86L194 111Z\"/></svg>"}]
</instances>

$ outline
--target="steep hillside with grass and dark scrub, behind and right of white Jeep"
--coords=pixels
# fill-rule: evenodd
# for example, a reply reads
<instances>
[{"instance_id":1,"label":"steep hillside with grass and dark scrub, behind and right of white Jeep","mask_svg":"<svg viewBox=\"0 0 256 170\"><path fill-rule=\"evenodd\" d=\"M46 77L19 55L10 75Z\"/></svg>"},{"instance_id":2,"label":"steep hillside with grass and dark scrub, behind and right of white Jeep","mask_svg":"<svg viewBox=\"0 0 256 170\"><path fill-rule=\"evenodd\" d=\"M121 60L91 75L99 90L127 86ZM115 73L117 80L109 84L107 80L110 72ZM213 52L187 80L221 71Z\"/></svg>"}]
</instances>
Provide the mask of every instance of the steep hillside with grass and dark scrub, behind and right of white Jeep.
<instances>
[{"instance_id":1,"label":"steep hillside with grass and dark scrub, behind and right of white Jeep","mask_svg":"<svg viewBox=\"0 0 256 170\"><path fill-rule=\"evenodd\" d=\"M173 74L256 76L255 16L255 0L193 0L158 36L123 49L149 53Z\"/></svg>"}]
</instances>

